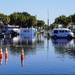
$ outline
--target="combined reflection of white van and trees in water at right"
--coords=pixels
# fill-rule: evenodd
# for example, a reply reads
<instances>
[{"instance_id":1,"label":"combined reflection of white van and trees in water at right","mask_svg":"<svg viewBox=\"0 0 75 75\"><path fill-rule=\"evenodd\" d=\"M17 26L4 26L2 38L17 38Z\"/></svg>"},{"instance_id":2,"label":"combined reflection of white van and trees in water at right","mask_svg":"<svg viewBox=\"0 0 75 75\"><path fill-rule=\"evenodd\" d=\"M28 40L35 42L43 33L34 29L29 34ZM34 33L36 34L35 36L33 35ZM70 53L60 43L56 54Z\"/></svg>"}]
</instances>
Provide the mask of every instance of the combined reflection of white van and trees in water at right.
<instances>
[{"instance_id":1,"label":"combined reflection of white van and trees in water at right","mask_svg":"<svg viewBox=\"0 0 75 75\"><path fill-rule=\"evenodd\" d=\"M75 39L52 39L57 54L70 55L75 58Z\"/></svg>"}]
</instances>

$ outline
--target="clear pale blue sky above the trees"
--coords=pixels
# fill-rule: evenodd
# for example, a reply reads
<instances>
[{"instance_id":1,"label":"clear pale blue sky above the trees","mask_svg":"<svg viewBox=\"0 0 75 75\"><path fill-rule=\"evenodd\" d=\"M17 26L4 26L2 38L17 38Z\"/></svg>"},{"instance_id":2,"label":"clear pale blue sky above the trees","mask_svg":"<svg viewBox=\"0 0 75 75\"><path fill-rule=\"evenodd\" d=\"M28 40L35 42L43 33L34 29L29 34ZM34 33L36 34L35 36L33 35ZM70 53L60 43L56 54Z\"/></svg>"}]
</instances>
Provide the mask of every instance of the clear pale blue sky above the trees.
<instances>
[{"instance_id":1,"label":"clear pale blue sky above the trees","mask_svg":"<svg viewBox=\"0 0 75 75\"><path fill-rule=\"evenodd\" d=\"M75 13L75 0L1 0L0 13L10 15L13 12L27 12L38 20L44 20L47 24L55 21L55 18ZM49 13L49 14L48 14Z\"/></svg>"}]
</instances>

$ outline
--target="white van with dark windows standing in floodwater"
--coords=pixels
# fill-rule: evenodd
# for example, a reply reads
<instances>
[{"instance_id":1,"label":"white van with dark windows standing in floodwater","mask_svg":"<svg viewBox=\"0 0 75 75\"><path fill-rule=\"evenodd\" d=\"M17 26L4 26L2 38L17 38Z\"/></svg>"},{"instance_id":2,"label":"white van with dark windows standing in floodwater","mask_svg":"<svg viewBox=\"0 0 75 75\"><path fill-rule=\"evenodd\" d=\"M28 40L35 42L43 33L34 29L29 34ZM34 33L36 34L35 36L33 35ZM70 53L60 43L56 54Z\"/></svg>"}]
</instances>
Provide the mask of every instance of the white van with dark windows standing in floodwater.
<instances>
[{"instance_id":1,"label":"white van with dark windows standing in floodwater","mask_svg":"<svg viewBox=\"0 0 75 75\"><path fill-rule=\"evenodd\" d=\"M54 28L51 32L51 36L56 39L58 37L65 37L65 38L73 38L74 33L68 28Z\"/></svg>"}]
</instances>

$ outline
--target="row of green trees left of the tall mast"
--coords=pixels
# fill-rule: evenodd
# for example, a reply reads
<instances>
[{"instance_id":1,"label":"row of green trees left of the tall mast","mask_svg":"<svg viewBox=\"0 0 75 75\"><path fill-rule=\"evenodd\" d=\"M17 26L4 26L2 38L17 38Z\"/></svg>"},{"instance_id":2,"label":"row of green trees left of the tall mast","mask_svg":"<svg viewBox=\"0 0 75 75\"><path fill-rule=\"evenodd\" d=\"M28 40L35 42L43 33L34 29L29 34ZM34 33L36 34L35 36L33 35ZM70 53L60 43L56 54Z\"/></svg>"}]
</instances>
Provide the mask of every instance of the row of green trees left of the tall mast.
<instances>
[{"instance_id":1,"label":"row of green trees left of the tall mast","mask_svg":"<svg viewBox=\"0 0 75 75\"><path fill-rule=\"evenodd\" d=\"M36 15L32 16L27 12L14 12L10 15L5 15L5 14L0 13L0 20L2 20L5 25L15 24L23 28L32 27L32 26L41 27L45 25L45 22L43 20L37 20Z\"/></svg>"}]
</instances>

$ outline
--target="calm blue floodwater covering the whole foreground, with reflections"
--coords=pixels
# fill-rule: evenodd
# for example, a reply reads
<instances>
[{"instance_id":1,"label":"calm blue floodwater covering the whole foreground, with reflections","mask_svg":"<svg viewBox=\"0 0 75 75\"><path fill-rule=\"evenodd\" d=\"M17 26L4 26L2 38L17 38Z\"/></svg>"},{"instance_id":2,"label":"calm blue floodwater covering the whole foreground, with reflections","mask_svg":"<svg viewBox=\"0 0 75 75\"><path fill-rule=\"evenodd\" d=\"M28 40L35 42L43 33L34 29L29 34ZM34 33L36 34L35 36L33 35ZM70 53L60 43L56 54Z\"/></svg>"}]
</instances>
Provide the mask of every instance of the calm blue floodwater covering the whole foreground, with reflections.
<instances>
[{"instance_id":1,"label":"calm blue floodwater covering the whole foreground, with reflections","mask_svg":"<svg viewBox=\"0 0 75 75\"><path fill-rule=\"evenodd\" d=\"M75 74L74 39L53 40L38 35L28 43L27 38L17 38L0 39L0 74Z\"/></svg>"}]
</instances>

